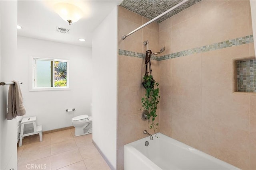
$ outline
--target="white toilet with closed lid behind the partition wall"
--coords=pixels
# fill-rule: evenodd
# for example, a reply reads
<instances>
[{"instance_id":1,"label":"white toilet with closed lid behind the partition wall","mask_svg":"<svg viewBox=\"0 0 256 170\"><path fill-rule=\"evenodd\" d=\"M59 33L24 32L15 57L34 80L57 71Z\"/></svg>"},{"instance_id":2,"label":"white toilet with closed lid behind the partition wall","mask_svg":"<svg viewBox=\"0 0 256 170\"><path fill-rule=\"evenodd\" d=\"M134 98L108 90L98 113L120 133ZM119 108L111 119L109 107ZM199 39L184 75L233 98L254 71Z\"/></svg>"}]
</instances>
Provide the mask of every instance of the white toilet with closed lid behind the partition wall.
<instances>
[{"instance_id":1,"label":"white toilet with closed lid behind the partition wall","mask_svg":"<svg viewBox=\"0 0 256 170\"><path fill-rule=\"evenodd\" d=\"M92 133L92 117L80 115L72 118L72 124L76 128L75 136L87 135Z\"/></svg>"}]
</instances>

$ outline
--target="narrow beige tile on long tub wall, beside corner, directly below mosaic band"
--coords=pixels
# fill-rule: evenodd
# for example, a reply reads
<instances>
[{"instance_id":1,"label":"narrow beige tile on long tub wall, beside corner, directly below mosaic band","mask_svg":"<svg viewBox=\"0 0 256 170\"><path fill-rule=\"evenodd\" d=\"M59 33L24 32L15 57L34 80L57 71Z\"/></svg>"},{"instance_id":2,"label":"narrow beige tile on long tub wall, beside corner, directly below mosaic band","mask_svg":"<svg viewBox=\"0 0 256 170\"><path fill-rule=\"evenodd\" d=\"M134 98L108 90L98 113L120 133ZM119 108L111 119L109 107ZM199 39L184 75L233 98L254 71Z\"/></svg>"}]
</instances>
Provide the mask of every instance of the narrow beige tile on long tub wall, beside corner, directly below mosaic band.
<instances>
[{"instance_id":1,"label":"narrow beige tile on long tub wall, beside corner, directly below mosaic band","mask_svg":"<svg viewBox=\"0 0 256 170\"><path fill-rule=\"evenodd\" d=\"M160 86L172 86L172 62L173 60L159 61Z\"/></svg>"}]
</instances>

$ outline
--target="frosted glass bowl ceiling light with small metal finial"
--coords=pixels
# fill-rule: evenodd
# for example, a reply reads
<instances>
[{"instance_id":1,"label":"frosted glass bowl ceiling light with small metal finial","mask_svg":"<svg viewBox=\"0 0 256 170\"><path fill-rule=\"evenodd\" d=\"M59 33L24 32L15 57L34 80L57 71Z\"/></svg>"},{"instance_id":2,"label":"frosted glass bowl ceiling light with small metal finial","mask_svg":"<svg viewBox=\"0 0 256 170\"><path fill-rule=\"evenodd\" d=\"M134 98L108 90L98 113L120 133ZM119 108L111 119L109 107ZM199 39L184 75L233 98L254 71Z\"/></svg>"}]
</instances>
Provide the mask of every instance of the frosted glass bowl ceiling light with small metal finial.
<instances>
[{"instance_id":1,"label":"frosted glass bowl ceiling light with small metal finial","mask_svg":"<svg viewBox=\"0 0 256 170\"><path fill-rule=\"evenodd\" d=\"M80 20L83 16L83 12L80 8L69 3L55 4L54 9L64 21L68 22L69 25Z\"/></svg>"}]
</instances>

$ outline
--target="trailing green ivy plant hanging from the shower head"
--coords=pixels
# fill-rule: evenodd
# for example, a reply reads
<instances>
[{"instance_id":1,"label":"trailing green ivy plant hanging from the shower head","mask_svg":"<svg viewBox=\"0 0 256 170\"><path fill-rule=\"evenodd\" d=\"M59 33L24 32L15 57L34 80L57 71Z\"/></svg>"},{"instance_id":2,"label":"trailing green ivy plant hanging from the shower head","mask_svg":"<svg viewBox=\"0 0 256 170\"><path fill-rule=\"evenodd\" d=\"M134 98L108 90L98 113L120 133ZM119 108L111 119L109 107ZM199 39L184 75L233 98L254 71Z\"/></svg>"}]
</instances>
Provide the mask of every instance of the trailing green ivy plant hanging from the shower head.
<instances>
[{"instance_id":1,"label":"trailing green ivy plant hanging from the shower head","mask_svg":"<svg viewBox=\"0 0 256 170\"><path fill-rule=\"evenodd\" d=\"M158 88L159 83L154 80L152 75L146 74L143 77L142 85L146 89L145 96L141 99L142 107L145 110L148 110L148 125L150 129L154 129L154 133L156 135L156 129L159 123L154 123L154 121L155 117L157 117L156 109L158 108L158 103L160 99Z\"/></svg>"}]
</instances>

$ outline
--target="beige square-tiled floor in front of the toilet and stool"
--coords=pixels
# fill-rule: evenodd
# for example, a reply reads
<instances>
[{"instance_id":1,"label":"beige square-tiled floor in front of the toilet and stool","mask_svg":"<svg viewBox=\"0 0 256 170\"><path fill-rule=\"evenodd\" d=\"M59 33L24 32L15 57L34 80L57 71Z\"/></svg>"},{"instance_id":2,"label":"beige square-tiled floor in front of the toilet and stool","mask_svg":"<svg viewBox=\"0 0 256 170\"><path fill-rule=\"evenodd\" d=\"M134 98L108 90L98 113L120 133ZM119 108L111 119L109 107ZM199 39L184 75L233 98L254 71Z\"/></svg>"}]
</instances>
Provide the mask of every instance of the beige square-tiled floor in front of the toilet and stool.
<instances>
[{"instance_id":1,"label":"beige square-tiled floor in front of the toilet and stool","mask_svg":"<svg viewBox=\"0 0 256 170\"><path fill-rule=\"evenodd\" d=\"M25 137L18 147L18 170L110 170L92 134L76 137L75 129Z\"/></svg>"}]
</instances>

